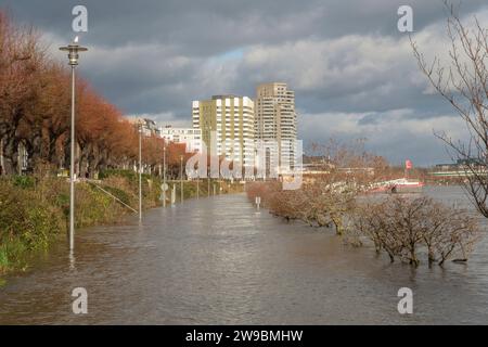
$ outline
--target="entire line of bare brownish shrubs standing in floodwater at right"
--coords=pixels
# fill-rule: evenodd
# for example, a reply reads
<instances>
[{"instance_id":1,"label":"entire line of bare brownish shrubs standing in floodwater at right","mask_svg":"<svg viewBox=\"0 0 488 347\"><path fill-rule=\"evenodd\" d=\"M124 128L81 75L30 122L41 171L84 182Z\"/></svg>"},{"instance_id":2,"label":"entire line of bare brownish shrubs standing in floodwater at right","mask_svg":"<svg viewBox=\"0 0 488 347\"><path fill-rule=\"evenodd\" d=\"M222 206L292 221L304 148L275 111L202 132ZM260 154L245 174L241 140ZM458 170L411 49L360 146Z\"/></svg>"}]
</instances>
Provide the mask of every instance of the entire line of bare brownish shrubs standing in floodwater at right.
<instances>
[{"instance_id":1,"label":"entire line of bare brownish shrubs standing in floodwater at right","mask_svg":"<svg viewBox=\"0 0 488 347\"><path fill-rule=\"evenodd\" d=\"M247 184L247 195L253 201L261 197L266 208L286 220L332 227L349 244L360 246L368 240L391 261L418 266L422 254L429 264L466 260L479 236L476 219L425 196L367 194L374 182L390 179L395 169L359 143L320 146L326 170L305 177L299 190L255 182Z\"/></svg>"}]
</instances>

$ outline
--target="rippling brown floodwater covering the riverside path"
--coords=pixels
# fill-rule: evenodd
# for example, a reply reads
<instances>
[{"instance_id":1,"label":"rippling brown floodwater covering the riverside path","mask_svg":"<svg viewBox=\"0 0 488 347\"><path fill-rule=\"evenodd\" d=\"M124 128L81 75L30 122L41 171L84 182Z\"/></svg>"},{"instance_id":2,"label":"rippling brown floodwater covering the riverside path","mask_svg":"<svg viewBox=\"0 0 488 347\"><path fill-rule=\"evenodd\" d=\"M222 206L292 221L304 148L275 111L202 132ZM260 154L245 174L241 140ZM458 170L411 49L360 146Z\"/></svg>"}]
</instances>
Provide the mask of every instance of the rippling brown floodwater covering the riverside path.
<instances>
[{"instance_id":1,"label":"rippling brown floodwater covering the riverside path","mask_svg":"<svg viewBox=\"0 0 488 347\"><path fill-rule=\"evenodd\" d=\"M465 203L457 188L429 188ZM333 233L285 223L245 195L154 209L142 224L77 233L33 271L0 288L0 322L156 324L487 323L488 243L467 265L390 265ZM75 261L76 259L76 261ZM397 292L414 293L400 316ZM72 290L88 291L88 314L72 312Z\"/></svg>"}]
</instances>

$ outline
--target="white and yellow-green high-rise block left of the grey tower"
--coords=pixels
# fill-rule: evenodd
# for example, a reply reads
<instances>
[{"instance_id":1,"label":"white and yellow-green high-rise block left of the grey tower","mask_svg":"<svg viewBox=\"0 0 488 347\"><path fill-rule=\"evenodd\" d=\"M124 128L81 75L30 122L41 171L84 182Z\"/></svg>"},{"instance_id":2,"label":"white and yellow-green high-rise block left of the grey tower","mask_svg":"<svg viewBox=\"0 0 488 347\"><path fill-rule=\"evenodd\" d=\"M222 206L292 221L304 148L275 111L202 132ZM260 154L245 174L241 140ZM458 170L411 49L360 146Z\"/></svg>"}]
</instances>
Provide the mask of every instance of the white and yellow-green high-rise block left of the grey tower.
<instances>
[{"instance_id":1,"label":"white and yellow-green high-rise block left of the grey tower","mask_svg":"<svg viewBox=\"0 0 488 347\"><path fill-rule=\"evenodd\" d=\"M193 128L202 130L208 153L254 166L254 102L247 97L214 95L211 100L193 101ZM211 147L211 132L215 146Z\"/></svg>"}]
</instances>

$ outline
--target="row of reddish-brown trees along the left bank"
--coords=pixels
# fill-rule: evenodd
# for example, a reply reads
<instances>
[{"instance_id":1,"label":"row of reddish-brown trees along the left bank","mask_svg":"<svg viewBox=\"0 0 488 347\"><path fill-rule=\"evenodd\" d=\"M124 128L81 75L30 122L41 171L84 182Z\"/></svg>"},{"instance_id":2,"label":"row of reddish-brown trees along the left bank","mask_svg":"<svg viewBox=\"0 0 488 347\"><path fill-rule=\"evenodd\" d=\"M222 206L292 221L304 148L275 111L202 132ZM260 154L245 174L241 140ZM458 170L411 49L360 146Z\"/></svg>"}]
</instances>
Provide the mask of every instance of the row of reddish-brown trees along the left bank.
<instances>
[{"instance_id":1,"label":"row of reddish-brown trees along the left bank","mask_svg":"<svg viewBox=\"0 0 488 347\"><path fill-rule=\"evenodd\" d=\"M0 140L1 172L39 165L66 167L69 159L70 76L67 65L50 57L31 27L13 23L0 11ZM105 168L131 168L138 159L137 126L104 100L82 78L77 79L77 171L92 177ZM163 162L163 139L144 137L146 169ZM177 175L184 146L168 144L169 172ZM156 174L159 170L154 170Z\"/></svg>"}]
</instances>

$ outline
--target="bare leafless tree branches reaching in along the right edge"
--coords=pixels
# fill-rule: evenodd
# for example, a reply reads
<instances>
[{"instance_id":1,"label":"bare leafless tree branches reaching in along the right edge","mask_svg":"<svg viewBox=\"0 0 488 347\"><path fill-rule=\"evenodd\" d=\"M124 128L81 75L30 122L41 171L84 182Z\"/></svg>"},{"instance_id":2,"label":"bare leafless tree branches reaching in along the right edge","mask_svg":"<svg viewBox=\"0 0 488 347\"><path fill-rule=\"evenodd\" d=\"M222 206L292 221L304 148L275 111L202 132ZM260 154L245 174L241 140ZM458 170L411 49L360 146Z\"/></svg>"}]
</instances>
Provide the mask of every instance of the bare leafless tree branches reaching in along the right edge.
<instances>
[{"instance_id":1,"label":"bare leafless tree branches reaching in along the right edge","mask_svg":"<svg viewBox=\"0 0 488 347\"><path fill-rule=\"evenodd\" d=\"M448 62L439 56L427 62L416 42L410 42L421 72L466 124L466 141L453 140L445 132L436 136L463 164L464 187L477 209L488 218L488 29L476 17L473 25L465 25L452 4L445 1L445 5L449 10Z\"/></svg>"}]
</instances>

